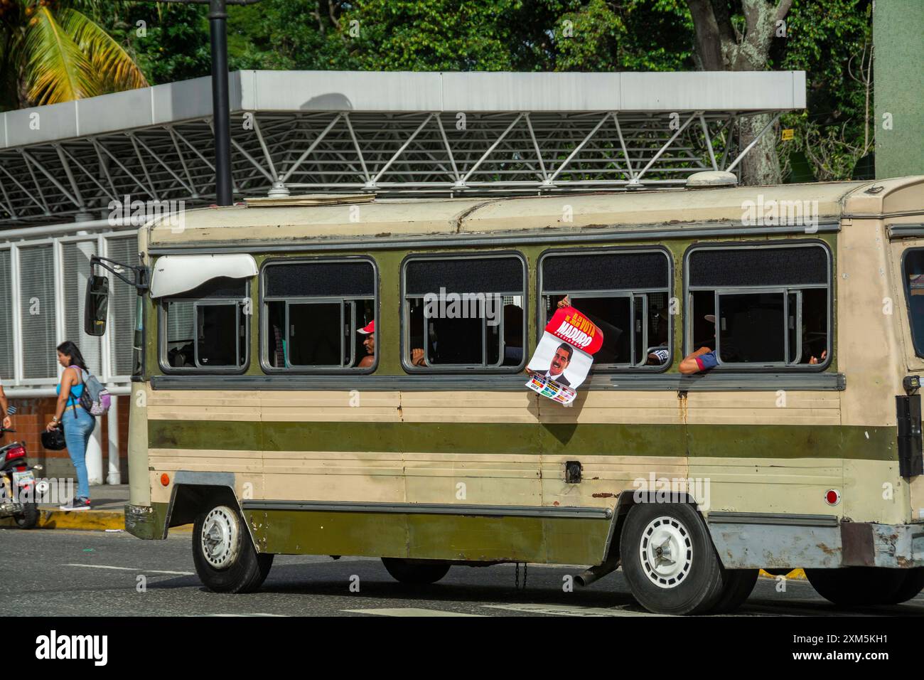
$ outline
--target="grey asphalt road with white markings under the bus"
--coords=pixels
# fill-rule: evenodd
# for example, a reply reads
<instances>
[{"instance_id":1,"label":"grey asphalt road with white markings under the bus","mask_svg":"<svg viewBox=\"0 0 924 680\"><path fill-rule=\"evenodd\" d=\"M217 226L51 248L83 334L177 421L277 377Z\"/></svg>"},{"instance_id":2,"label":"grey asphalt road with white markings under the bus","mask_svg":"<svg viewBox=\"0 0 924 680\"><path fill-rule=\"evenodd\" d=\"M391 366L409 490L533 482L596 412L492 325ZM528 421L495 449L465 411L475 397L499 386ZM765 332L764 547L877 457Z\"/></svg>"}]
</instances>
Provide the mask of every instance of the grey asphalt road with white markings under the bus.
<instances>
[{"instance_id":1,"label":"grey asphalt road with white markings under the bus","mask_svg":"<svg viewBox=\"0 0 924 680\"><path fill-rule=\"evenodd\" d=\"M190 542L188 533L143 541L126 533L0 529L0 614L650 615L633 600L620 572L565 592L563 577L578 569L538 564L529 566L525 590L515 588L513 565L453 567L438 584L407 587L395 582L378 560L277 555L261 591L219 595L201 586ZM774 580L761 578L737 614L920 616L924 596L894 607L841 610L805 581L789 579L785 592L778 592Z\"/></svg>"}]
</instances>

